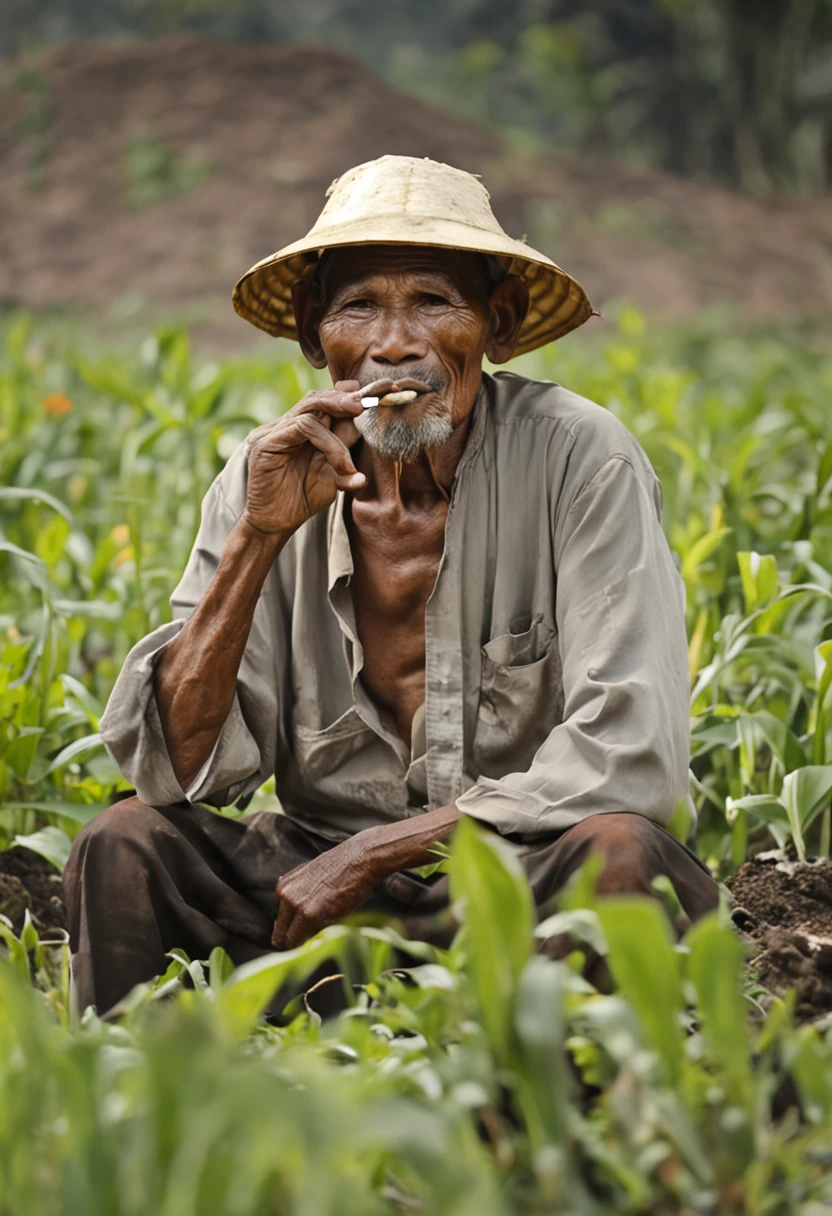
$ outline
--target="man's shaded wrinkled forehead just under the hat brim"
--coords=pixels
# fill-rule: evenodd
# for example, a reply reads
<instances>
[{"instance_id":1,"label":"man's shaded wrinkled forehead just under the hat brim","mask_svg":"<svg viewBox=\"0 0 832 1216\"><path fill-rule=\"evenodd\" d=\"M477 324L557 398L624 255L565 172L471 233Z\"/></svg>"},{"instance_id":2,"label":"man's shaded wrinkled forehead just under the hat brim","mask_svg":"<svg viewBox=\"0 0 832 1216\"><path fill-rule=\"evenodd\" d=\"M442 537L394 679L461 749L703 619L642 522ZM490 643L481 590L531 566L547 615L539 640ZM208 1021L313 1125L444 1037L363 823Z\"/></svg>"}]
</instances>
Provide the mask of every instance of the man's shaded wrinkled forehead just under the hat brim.
<instances>
[{"instance_id":1,"label":"man's shaded wrinkled forehead just under the hat brim","mask_svg":"<svg viewBox=\"0 0 832 1216\"><path fill-rule=\"evenodd\" d=\"M315 278L326 298L370 280L429 277L444 280L462 294L489 294L489 266L483 254L428 246L364 244L327 249Z\"/></svg>"}]
</instances>

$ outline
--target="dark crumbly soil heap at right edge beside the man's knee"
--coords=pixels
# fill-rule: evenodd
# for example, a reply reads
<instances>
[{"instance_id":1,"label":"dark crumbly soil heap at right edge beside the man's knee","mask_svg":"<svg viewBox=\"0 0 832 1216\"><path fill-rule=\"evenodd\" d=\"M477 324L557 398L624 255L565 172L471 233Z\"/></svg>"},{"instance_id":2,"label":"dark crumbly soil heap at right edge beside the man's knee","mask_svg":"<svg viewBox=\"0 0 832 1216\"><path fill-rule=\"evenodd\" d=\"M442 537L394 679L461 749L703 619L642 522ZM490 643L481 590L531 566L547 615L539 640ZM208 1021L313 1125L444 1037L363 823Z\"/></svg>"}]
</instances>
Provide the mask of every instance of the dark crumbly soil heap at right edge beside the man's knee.
<instances>
[{"instance_id":1,"label":"dark crumbly soil heap at right edge beside the man's knee","mask_svg":"<svg viewBox=\"0 0 832 1216\"><path fill-rule=\"evenodd\" d=\"M763 854L727 880L733 921L757 952L753 969L769 991L797 991L796 1017L832 1010L832 861L785 862Z\"/></svg>"}]
</instances>

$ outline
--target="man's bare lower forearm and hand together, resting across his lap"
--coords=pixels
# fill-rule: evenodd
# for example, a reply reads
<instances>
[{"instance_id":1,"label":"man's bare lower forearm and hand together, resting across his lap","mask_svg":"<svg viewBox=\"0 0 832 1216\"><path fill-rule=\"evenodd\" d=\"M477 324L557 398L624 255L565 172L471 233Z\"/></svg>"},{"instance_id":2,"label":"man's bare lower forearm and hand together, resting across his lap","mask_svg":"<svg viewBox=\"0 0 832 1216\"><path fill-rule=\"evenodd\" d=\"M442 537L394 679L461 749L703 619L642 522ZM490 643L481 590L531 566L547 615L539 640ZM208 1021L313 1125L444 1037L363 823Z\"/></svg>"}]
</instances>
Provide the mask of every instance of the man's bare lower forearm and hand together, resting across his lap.
<instances>
[{"instance_id":1,"label":"man's bare lower forearm and hand together, resting across his lap","mask_svg":"<svg viewBox=\"0 0 832 1216\"><path fill-rule=\"evenodd\" d=\"M382 878L435 861L432 846L446 840L459 820L460 812L451 804L401 823L366 828L283 874L276 886L271 945L276 950L303 945L327 924L358 912Z\"/></svg>"}]
</instances>

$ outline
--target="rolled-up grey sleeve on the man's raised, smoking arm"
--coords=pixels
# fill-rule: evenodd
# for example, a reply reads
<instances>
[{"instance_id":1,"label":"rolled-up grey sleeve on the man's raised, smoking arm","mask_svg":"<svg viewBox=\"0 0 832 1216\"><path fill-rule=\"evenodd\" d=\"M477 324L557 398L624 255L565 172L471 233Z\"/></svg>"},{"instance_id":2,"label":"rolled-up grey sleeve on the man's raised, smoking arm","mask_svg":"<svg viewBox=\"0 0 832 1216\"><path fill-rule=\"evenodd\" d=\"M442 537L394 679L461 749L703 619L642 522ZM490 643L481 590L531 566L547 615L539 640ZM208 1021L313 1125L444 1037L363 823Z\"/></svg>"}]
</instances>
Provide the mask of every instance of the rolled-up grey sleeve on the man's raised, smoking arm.
<instances>
[{"instance_id":1,"label":"rolled-up grey sleeve on the man's raised, smoking arm","mask_svg":"<svg viewBox=\"0 0 832 1216\"><path fill-rule=\"evenodd\" d=\"M174 620L130 651L101 719L107 750L139 798L151 806L181 801L224 806L257 789L275 769L280 621L274 589L260 596L234 704L210 756L187 789L174 773L156 703L156 665L210 582L236 519L220 482L214 482L202 505L185 574L170 597Z\"/></svg>"}]
</instances>

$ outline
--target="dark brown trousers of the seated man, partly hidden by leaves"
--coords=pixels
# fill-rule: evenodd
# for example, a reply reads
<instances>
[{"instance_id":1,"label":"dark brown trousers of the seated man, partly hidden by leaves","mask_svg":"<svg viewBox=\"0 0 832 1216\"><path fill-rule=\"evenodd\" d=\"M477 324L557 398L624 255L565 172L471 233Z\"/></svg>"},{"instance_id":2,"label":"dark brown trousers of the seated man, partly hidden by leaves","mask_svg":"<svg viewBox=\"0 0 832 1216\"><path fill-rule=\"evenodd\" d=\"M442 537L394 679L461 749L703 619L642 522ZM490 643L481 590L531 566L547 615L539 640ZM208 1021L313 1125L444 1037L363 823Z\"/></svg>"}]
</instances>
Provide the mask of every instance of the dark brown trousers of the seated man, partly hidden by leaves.
<instances>
[{"instance_id":1,"label":"dark brown trousers of the seated man, partly hidden by leaves","mask_svg":"<svg viewBox=\"0 0 832 1216\"><path fill-rule=\"evenodd\" d=\"M105 1013L162 974L174 947L204 959L221 946L237 966L268 952L279 878L331 848L282 815L229 820L206 806L152 807L137 798L111 806L78 834L63 872L80 1008ZM653 878L667 874L692 921L718 903L698 857L643 816L615 814L594 815L522 856L538 908L598 851L600 894L650 895ZM410 938L446 945L448 902L445 876L398 872L366 908L395 918Z\"/></svg>"}]
</instances>

